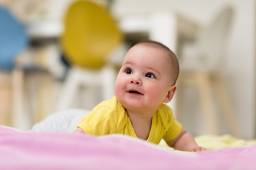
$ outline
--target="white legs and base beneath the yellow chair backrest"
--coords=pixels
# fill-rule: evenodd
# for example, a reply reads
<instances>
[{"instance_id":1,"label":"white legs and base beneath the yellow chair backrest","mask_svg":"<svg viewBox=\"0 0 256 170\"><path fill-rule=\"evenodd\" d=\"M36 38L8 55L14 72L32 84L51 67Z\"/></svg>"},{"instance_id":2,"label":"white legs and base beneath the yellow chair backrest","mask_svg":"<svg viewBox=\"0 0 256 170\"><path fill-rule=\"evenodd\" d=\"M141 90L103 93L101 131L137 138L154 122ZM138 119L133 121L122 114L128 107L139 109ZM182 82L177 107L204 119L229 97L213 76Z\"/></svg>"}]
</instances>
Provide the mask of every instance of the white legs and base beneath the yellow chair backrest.
<instances>
[{"instance_id":1,"label":"white legs and base beneath the yellow chair backrest","mask_svg":"<svg viewBox=\"0 0 256 170\"><path fill-rule=\"evenodd\" d=\"M79 86L89 86L102 88L102 100L109 100L114 96L114 82L117 73L114 67L104 67L102 70L82 69L80 67L73 67L68 73L68 77L63 84L63 89L60 91L57 108L55 111L62 111L70 108L78 92ZM90 103L95 101L95 94L93 89L87 93L91 97ZM97 96L96 96L97 97ZM95 104L92 104L95 106Z\"/></svg>"}]
</instances>

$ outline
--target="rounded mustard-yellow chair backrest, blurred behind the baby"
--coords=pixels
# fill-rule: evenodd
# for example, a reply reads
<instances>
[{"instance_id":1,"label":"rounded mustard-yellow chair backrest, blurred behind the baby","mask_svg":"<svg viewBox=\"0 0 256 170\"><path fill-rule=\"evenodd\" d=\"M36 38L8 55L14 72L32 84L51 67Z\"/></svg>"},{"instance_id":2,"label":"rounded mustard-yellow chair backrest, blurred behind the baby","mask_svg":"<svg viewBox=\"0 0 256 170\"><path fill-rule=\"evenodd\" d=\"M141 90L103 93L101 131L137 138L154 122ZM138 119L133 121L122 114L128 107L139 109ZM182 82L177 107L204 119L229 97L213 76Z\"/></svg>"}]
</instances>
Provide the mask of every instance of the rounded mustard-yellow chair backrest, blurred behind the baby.
<instances>
[{"instance_id":1,"label":"rounded mustard-yellow chair backrest, blurred behind the baby","mask_svg":"<svg viewBox=\"0 0 256 170\"><path fill-rule=\"evenodd\" d=\"M60 38L65 59L81 67L102 67L107 54L122 41L110 13L92 1L75 1L64 21Z\"/></svg>"}]
</instances>

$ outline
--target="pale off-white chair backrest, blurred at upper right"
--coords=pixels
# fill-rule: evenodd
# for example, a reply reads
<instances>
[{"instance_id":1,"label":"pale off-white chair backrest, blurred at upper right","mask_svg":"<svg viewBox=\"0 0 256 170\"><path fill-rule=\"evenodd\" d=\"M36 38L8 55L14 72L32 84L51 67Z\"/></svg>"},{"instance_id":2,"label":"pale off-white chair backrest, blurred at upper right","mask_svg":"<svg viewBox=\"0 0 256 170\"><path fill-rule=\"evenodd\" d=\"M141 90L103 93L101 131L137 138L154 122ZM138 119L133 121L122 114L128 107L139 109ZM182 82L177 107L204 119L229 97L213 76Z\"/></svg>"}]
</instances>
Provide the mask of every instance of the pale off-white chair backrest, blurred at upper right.
<instances>
[{"instance_id":1,"label":"pale off-white chair backrest, blurred at upper right","mask_svg":"<svg viewBox=\"0 0 256 170\"><path fill-rule=\"evenodd\" d=\"M231 23L233 21L233 8L226 7L221 11L213 22L208 26L203 35L203 55L206 57L208 69L218 69L225 60L227 40L230 35Z\"/></svg>"}]
</instances>

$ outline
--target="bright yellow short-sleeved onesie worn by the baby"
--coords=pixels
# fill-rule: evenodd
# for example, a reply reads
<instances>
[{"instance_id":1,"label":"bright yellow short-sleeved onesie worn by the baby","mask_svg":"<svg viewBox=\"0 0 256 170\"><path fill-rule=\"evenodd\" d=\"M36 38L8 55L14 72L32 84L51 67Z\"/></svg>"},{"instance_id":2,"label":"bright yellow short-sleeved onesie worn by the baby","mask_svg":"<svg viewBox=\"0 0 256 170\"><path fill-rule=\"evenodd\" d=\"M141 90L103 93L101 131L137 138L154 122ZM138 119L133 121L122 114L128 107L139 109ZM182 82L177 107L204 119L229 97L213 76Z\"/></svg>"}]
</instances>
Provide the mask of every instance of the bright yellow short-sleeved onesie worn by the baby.
<instances>
[{"instance_id":1,"label":"bright yellow short-sleeved onesie worn by the baby","mask_svg":"<svg viewBox=\"0 0 256 170\"><path fill-rule=\"evenodd\" d=\"M125 108L115 96L93 108L80 120L78 127L82 128L85 134L100 136L119 133L137 137ZM151 130L146 141L159 144L161 139L173 140L181 129L182 126L174 119L171 108L163 103L152 118Z\"/></svg>"}]
</instances>

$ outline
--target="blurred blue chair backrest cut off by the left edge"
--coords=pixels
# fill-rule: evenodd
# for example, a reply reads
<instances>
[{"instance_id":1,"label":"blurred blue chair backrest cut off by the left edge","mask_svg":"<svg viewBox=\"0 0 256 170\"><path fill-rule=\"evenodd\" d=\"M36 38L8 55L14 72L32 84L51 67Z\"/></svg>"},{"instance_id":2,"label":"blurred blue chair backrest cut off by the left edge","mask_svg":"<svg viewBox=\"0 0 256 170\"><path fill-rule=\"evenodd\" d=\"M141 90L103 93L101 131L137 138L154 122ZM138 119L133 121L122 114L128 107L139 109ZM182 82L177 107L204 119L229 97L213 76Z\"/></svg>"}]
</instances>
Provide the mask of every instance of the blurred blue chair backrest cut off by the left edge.
<instances>
[{"instance_id":1,"label":"blurred blue chair backrest cut off by the left edge","mask_svg":"<svg viewBox=\"0 0 256 170\"><path fill-rule=\"evenodd\" d=\"M12 69L14 58L27 45L28 37L21 23L0 6L0 69Z\"/></svg>"}]
</instances>

